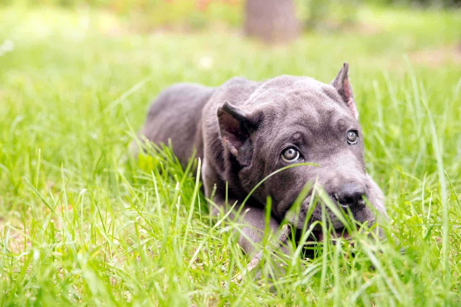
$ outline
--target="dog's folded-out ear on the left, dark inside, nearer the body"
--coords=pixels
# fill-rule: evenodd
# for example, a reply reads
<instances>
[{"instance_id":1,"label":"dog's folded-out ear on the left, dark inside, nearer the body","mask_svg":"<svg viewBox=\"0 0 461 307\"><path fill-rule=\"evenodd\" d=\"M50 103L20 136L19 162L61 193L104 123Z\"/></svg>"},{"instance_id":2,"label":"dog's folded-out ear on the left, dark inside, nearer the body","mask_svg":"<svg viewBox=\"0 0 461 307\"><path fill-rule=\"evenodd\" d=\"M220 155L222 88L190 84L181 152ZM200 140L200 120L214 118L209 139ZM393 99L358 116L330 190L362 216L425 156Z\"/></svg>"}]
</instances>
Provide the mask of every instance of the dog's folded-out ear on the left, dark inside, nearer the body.
<instances>
[{"instance_id":1,"label":"dog's folded-out ear on the left, dark inside, nearer the body","mask_svg":"<svg viewBox=\"0 0 461 307\"><path fill-rule=\"evenodd\" d=\"M227 101L218 108L217 113L224 146L242 166L249 166L253 156L250 131L256 127L254 116Z\"/></svg>"}]
</instances>

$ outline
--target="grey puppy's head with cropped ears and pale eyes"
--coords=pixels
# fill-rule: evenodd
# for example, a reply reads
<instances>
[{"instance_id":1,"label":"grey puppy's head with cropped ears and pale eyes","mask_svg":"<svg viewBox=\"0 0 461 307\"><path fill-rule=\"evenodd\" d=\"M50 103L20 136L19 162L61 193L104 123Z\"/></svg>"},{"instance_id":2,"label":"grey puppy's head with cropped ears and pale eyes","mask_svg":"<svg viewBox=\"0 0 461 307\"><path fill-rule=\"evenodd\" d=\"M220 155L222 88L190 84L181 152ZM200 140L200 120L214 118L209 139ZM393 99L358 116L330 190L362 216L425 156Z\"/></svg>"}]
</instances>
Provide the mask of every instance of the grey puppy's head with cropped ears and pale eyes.
<instances>
[{"instance_id":1,"label":"grey puppy's head with cropped ears and pale eyes","mask_svg":"<svg viewBox=\"0 0 461 307\"><path fill-rule=\"evenodd\" d=\"M282 219L307 182L317 182L334 204L348 209L359 222L374 222L365 199L382 211L380 189L366 174L363 135L344 63L325 84L306 77L281 76L263 83L245 103L245 110L225 102L218 108L221 137L238 162L242 189L249 192L265 176L286 165L312 162L267 179L253 197L265 204L272 197L273 215ZM312 197L301 204L302 227ZM308 223L321 221L321 206ZM332 226L343 224L327 209Z\"/></svg>"}]
</instances>

